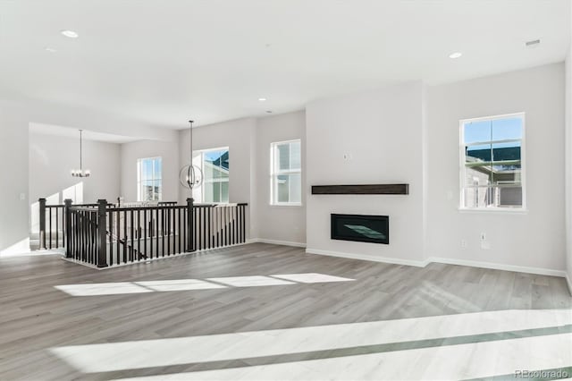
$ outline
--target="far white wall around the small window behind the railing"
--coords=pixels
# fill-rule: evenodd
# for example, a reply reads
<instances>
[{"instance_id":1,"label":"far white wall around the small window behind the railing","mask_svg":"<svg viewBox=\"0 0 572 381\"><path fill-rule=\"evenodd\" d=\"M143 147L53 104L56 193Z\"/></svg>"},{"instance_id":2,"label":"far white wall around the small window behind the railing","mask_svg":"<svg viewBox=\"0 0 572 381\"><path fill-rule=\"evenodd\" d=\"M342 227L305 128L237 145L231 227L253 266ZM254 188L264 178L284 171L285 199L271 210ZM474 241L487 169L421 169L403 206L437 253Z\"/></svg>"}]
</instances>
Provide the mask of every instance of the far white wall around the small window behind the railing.
<instances>
[{"instance_id":1,"label":"far white wall around the small window behind the railing","mask_svg":"<svg viewBox=\"0 0 572 381\"><path fill-rule=\"evenodd\" d=\"M179 200L179 143L177 140L141 140L122 144L121 195L125 202L137 201L137 160L162 157L163 200Z\"/></svg>"}]
</instances>

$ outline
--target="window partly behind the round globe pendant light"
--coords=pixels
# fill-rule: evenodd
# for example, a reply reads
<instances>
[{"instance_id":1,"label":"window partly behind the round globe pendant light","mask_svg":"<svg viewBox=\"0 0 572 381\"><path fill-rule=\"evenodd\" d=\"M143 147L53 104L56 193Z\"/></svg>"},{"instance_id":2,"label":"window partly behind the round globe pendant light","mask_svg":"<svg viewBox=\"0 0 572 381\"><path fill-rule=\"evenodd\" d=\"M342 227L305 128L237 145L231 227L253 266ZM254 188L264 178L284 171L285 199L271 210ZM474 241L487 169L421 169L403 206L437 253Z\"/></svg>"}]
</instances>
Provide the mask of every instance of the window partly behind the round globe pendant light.
<instances>
[{"instance_id":1,"label":"window partly behind the round globe pendant light","mask_svg":"<svg viewBox=\"0 0 572 381\"><path fill-rule=\"evenodd\" d=\"M203 183L193 191L193 197L200 202L229 202L229 148L215 148L200 151L193 158L193 164L203 171Z\"/></svg>"}]
</instances>

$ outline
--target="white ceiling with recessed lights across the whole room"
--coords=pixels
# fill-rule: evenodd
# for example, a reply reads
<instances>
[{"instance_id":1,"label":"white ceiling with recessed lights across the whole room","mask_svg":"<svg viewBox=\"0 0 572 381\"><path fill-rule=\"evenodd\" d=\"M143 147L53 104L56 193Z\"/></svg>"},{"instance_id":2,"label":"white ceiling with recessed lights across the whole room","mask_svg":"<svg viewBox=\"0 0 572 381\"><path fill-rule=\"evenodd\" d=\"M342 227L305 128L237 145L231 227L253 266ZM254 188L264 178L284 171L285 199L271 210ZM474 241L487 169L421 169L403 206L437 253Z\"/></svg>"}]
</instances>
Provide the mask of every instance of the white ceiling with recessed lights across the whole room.
<instances>
[{"instance_id":1,"label":"white ceiling with recessed lights across the whole room","mask_svg":"<svg viewBox=\"0 0 572 381\"><path fill-rule=\"evenodd\" d=\"M282 113L388 82L434 84L562 61L569 6L569 0L0 0L0 97L175 129L187 128L190 116L206 124ZM60 30L80 38L64 38ZM526 48L535 38L541 45ZM451 60L456 51L463 56Z\"/></svg>"}]
</instances>

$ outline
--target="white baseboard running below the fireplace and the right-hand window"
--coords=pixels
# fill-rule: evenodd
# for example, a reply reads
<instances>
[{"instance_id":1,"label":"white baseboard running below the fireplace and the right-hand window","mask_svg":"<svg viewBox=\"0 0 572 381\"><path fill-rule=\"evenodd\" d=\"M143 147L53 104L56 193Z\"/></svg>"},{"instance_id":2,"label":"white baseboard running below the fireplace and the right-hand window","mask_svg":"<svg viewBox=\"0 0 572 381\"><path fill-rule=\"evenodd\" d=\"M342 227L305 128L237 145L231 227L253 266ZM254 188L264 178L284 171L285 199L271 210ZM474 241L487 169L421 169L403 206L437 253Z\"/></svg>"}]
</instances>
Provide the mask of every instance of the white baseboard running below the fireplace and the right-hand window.
<instances>
[{"instance_id":1,"label":"white baseboard running below the fireplace and the right-hand window","mask_svg":"<svg viewBox=\"0 0 572 381\"><path fill-rule=\"evenodd\" d=\"M443 264L447 264L447 265L492 268L494 270L514 271L517 273L559 276L559 277L563 277L563 278L567 279L568 288L569 288L570 292L572 293L572 282L570 281L570 278L567 276L566 272L560 271L560 270L552 270L550 268L512 266L512 265L503 265L500 263L479 262L479 261L474 261L474 260L464 260L464 259L455 259L455 258L431 257L431 258L427 258L425 260L386 258L386 257L378 257L378 256L374 256L374 255L369 255L369 254L346 253L346 252L341 252L341 251L319 250L319 249L311 249L311 248L307 249L306 252L308 254L319 254L319 255L325 255L325 256L331 256L331 257L370 260L372 262L383 262L383 263L391 263L391 264L395 264L395 265L406 265L406 266L415 266L415 267L425 267L428 264L434 262L434 263L443 263Z\"/></svg>"}]
</instances>

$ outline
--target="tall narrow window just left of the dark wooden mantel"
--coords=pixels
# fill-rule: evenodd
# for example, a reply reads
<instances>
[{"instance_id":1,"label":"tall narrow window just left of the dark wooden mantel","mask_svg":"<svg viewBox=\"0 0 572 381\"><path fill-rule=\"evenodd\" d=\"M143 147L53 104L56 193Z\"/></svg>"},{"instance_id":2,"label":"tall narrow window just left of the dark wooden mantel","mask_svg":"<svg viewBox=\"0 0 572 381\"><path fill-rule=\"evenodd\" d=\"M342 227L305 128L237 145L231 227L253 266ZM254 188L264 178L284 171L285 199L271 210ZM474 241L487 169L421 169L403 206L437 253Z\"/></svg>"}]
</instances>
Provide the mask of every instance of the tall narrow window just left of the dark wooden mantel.
<instances>
[{"instance_id":1,"label":"tall narrow window just left of the dark wooden mantel","mask_svg":"<svg viewBox=\"0 0 572 381\"><path fill-rule=\"evenodd\" d=\"M300 140L280 141L270 146L272 205L301 205L302 169Z\"/></svg>"}]
</instances>

